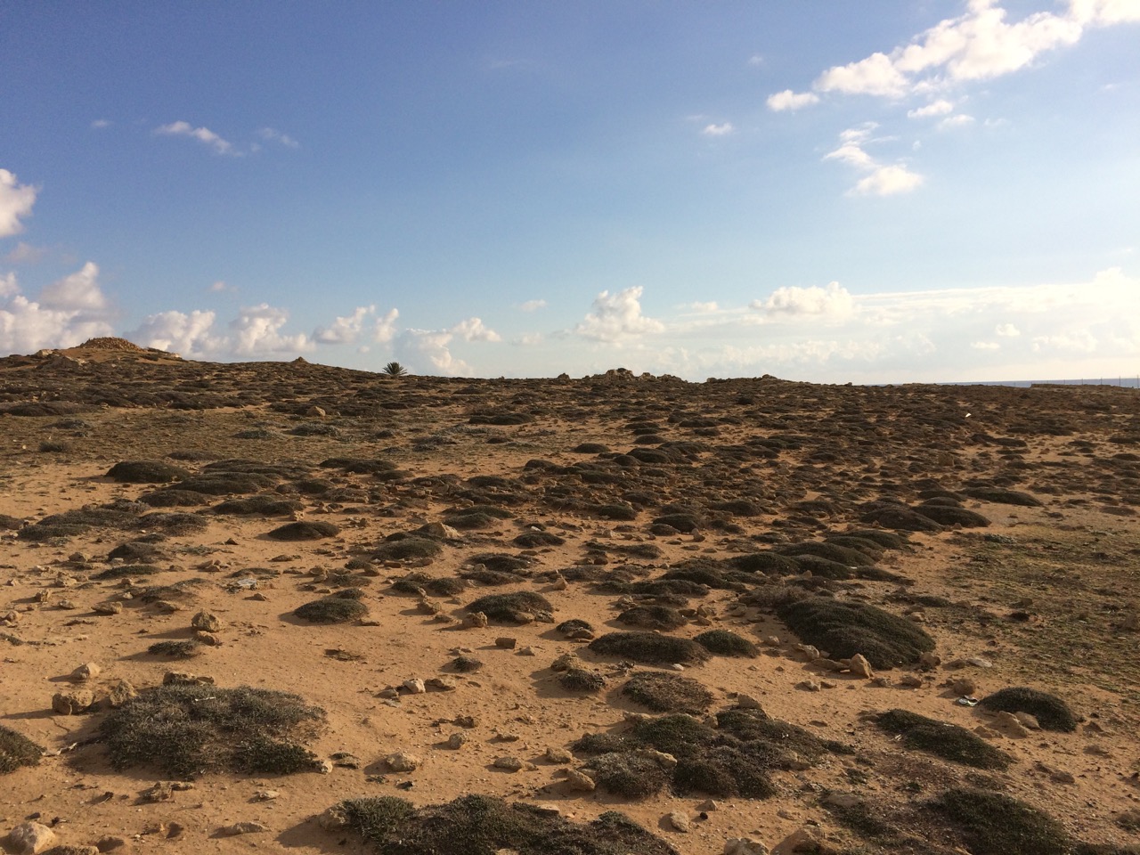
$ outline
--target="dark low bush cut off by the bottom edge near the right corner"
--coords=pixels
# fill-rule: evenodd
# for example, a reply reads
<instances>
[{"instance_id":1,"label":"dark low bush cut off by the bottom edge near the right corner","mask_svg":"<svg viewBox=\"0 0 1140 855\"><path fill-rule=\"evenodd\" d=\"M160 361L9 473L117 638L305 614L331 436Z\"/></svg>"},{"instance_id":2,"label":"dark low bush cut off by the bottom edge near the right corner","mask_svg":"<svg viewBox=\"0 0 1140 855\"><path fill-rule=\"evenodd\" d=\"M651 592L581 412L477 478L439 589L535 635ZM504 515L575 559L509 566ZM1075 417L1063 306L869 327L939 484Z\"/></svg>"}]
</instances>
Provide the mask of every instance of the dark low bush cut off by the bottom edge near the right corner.
<instances>
[{"instance_id":1,"label":"dark low bush cut off by the bottom edge near the right corner","mask_svg":"<svg viewBox=\"0 0 1140 855\"><path fill-rule=\"evenodd\" d=\"M1068 855L1064 826L1023 801L991 790L953 789L933 805L962 831L976 855Z\"/></svg>"}]
</instances>

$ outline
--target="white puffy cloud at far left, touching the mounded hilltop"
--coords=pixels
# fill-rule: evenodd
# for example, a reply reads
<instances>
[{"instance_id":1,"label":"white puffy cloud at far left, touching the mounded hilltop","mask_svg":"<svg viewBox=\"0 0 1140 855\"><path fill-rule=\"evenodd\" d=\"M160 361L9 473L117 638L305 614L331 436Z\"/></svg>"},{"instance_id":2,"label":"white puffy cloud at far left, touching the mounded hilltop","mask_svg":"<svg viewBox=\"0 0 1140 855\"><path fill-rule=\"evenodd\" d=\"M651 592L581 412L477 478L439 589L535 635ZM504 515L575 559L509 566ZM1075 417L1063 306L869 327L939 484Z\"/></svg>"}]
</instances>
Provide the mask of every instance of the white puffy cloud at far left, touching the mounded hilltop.
<instances>
[{"instance_id":1,"label":"white puffy cloud at far left, touching the mounded hilltop","mask_svg":"<svg viewBox=\"0 0 1140 855\"><path fill-rule=\"evenodd\" d=\"M28 353L41 348L70 348L87 339L111 335L107 300L98 284L99 268L81 270L43 288L38 300L19 293L14 274L0 277L0 351Z\"/></svg>"}]
</instances>

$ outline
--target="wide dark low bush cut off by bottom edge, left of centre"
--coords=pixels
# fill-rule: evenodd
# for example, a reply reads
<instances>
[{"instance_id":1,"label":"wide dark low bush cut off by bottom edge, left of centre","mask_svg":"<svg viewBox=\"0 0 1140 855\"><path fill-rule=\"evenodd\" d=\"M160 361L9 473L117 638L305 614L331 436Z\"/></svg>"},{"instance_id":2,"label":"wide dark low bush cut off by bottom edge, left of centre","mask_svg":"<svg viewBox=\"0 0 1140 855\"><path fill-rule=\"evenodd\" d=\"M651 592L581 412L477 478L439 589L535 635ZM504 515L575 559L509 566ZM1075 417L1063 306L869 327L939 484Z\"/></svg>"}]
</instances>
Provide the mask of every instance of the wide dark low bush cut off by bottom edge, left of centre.
<instances>
[{"instance_id":1,"label":"wide dark low bush cut off by bottom edge, left of centre","mask_svg":"<svg viewBox=\"0 0 1140 855\"><path fill-rule=\"evenodd\" d=\"M418 809L391 796L342 801L334 808L383 855L677 855L676 849L613 811L589 823L543 813L535 805L463 796Z\"/></svg>"}]
</instances>

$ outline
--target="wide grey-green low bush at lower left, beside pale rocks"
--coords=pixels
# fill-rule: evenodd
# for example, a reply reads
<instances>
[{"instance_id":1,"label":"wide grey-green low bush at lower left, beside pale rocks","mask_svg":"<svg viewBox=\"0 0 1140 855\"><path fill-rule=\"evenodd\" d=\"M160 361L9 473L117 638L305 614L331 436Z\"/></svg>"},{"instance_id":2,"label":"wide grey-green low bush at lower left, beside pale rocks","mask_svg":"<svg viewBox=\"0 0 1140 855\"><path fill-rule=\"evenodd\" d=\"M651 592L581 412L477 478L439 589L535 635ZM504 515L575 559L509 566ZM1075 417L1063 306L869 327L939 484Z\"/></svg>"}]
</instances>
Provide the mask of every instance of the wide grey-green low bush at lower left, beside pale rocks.
<instances>
[{"instance_id":1,"label":"wide grey-green low bush at lower left, beside pale rocks","mask_svg":"<svg viewBox=\"0 0 1140 855\"><path fill-rule=\"evenodd\" d=\"M170 685L145 689L112 710L99 735L116 769L149 766L178 779L288 774L317 767L296 740L315 735L324 715L286 692Z\"/></svg>"}]
</instances>

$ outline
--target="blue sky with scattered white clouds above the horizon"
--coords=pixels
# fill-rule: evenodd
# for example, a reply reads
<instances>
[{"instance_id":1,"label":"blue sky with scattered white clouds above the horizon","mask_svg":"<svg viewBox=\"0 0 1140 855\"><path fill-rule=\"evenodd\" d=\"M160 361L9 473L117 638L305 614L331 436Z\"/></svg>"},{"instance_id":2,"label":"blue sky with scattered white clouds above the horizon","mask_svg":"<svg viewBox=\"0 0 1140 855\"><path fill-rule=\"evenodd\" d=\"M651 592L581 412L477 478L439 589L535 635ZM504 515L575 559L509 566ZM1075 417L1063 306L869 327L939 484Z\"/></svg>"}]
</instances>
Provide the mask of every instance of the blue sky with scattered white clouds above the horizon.
<instances>
[{"instance_id":1,"label":"blue sky with scattered white clouds above the horizon","mask_svg":"<svg viewBox=\"0 0 1140 855\"><path fill-rule=\"evenodd\" d=\"M1140 0L0 6L0 352L1140 373Z\"/></svg>"}]
</instances>

